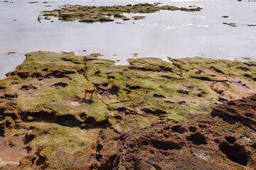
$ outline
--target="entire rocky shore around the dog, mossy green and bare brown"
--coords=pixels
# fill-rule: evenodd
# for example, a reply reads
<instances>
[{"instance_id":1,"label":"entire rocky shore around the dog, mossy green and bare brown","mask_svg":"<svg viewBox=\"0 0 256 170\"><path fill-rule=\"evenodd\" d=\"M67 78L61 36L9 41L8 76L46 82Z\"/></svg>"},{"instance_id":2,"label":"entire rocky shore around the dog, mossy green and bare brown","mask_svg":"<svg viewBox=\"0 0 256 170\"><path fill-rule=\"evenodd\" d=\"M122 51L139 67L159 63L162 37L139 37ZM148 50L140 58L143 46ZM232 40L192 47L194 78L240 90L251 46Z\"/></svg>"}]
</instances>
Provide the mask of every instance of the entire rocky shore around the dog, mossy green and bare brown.
<instances>
[{"instance_id":1,"label":"entire rocky shore around the dog, mossy green and bare brown","mask_svg":"<svg viewBox=\"0 0 256 170\"><path fill-rule=\"evenodd\" d=\"M256 62L100 56L31 52L0 81L0 140L26 151L0 169L256 168Z\"/></svg>"}]
</instances>

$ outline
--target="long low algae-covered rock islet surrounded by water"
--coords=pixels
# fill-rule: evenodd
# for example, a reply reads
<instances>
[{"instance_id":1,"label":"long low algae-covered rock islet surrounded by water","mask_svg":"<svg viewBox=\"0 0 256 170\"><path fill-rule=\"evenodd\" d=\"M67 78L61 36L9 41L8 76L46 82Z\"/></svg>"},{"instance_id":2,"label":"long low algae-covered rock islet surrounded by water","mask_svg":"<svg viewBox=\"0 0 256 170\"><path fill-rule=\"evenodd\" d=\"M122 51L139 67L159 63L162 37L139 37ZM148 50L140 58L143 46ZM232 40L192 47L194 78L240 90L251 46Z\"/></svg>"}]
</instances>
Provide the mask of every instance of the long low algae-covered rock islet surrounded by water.
<instances>
[{"instance_id":1,"label":"long low algae-covered rock islet surrounded by water","mask_svg":"<svg viewBox=\"0 0 256 170\"><path fill-rule=\"evenodd\" d=\"M60 21L79 21L81 23L109 22L115 18L122 18L127 21L130 19L143 19L145 16L133 16L127 18L124 13L155 13L160 10L169 11L201 11L202 8L179 8L176 6L157 6L156 4L135 4L127 6L70 6L65 5L53 11L43 11L43 16L58 17Z\"/></svg>"}]
</instances>

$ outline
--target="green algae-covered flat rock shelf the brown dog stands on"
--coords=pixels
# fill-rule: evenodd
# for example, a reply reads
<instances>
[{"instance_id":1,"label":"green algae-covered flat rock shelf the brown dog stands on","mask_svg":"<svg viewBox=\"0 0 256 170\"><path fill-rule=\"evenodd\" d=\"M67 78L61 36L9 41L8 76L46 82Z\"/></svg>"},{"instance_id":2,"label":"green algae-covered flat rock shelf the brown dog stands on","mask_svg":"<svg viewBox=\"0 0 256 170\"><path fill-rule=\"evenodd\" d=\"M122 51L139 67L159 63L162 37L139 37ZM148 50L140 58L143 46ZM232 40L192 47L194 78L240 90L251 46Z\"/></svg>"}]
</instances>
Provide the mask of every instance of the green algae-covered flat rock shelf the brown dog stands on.
<instances>
[{"instance_id":1,"label":"green algae-covered flat rock shelf the brown dog stands on","mask_svg":"<svg viewBox=\"0 0 256 170\"><path fill-rule=\"evenodd\" d=\"M0 80L0 135L27 149L20 167L113 169L122 133L210 113L256 89L252 61L148 57L115 65L100 56L31 52ZM96 95L85 96L94 87Z\"/></svg>"}]
</instances>

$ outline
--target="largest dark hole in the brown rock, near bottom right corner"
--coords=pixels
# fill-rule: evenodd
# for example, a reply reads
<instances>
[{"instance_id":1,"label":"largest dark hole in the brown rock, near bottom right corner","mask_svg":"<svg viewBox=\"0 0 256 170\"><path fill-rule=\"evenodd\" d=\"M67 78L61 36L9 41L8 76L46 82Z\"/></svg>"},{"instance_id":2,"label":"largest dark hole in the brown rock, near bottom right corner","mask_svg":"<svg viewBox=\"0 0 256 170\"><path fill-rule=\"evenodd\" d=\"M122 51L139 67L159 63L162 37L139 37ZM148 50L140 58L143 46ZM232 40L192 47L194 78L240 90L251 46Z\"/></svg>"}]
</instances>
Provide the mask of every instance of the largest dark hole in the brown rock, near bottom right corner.
<instances>
[{"instance_id":1,"label":"largest dark hole in the brown rock, near bottom right corner","mask_svg":"<svg viewBox=\"0 0 256 170\"><path fill-rule=\"evenodd\" d=\"M238 143L229 145L228 142L222 142L219 148L231 161L243 166L247 165L248 155L244 146L238 145Z\"/></svg>"}]
</instances>

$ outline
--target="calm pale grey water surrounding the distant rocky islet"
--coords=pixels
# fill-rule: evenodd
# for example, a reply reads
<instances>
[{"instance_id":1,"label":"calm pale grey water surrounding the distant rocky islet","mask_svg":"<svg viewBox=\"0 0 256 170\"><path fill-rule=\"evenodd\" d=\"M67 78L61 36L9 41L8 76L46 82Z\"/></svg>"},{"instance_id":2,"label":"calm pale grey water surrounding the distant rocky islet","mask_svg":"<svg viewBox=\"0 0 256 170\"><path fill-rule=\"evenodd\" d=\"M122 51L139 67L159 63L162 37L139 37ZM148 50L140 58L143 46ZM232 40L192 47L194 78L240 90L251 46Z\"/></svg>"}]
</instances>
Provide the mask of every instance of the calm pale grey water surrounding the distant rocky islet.
<instances>
[{"instance_id":1,"label":"calm pale grey water surrounding the distant rocky islet","mask_svg":"<svg viewBox=\"0 0 256 170\"><path fill-rule=\"evenodd\" d=\"M104 58L120 60L117 64L127 64L132 53L163 60L167 60L166 57L200 56L228 60L250 57L256 61L256 27L247 26L256 24L254 1L39 0L38 4L28 4L28 0L3 1L0 0L0 79L23 62L24 53L38 50L74 51L76 55L100 52ZM48 3L43 3L45 1ZM146 16L144 20L111 23L61 22L58 18L37 21L40 11L64 4L105 6L146 2L183 7L196 5L203 10L143 13L135 16ZM238 25L231 27L223 22ZM7 55L8 52L18 53Z\"/></svg>"}]
</instances>

